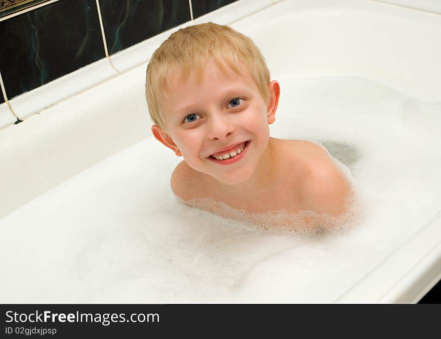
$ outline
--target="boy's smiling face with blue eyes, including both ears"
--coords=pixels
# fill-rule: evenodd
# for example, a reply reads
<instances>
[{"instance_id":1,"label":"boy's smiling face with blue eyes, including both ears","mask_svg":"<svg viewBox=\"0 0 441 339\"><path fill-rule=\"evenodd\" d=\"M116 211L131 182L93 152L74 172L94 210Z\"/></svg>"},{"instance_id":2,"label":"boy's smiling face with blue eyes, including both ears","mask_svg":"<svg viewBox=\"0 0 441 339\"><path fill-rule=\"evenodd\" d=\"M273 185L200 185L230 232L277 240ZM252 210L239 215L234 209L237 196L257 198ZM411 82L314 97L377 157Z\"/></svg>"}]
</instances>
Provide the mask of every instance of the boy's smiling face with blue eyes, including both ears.
<instances>
[{"instance_id":1,"label":"boy's smiling face with blue eyes, including both ears","mask_svg":"<svg viewBox=\"0 0 441 339\"><path fill-rule=\"evenodd\" d=\"M162 106L168 133L152 127L154 136L190 167L230 185L254 173L268 146L268 125L275 120L279 97L279 85L273 81L267 105L248 70L242 73L229 68L224 73L210 61L200 83L195 74L185 82L169 79ZM227 154L228 159L213 158Z\"/></svg>"}]
</instances>

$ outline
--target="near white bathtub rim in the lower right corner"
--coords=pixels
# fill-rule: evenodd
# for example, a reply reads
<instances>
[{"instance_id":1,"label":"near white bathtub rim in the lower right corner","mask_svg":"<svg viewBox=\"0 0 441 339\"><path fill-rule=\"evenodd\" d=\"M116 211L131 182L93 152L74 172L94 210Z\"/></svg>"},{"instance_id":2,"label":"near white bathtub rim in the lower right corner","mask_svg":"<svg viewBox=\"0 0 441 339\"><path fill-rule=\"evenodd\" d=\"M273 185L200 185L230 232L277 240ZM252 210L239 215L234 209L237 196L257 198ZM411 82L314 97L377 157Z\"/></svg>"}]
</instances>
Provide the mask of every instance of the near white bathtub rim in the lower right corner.
<instances>
[{"instance_id":1,"label":"near white bathtub rim in the lower right corner","mask_svg":"<svg viewBox=\"0 0 441 339\"><path fill-rule=\"evenodd\" d=\"M440 279L441 210L335 302L416 303Z\"/></svg>"}]
</instances>

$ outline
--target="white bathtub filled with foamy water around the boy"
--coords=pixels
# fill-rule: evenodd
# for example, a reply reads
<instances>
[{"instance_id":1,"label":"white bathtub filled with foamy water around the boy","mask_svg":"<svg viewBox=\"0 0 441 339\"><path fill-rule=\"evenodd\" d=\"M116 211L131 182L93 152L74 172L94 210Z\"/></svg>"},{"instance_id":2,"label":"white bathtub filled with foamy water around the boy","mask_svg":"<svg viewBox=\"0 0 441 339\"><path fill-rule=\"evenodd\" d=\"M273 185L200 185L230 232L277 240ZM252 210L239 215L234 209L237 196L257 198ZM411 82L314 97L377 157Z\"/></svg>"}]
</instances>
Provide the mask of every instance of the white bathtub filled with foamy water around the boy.
<instances>
[{"instance_id":1,"label":"white bathtub filled with foamy water around the boy","mask_svg":"<svg viewBox=\"0 0 441 339\"><path fill-rule=\"evenodd\" d=\"M144 99L169 31L111 57L94 86L38 104L79 70L11 101L24 122L0 130L0 300L417 302L441 278L441 15L239 1L205 21L262 50L281 84L271 135L326 147L353 177L359 223L277 234L176 200L181 158L151 136Z\"/></svg>"}]
</instances>

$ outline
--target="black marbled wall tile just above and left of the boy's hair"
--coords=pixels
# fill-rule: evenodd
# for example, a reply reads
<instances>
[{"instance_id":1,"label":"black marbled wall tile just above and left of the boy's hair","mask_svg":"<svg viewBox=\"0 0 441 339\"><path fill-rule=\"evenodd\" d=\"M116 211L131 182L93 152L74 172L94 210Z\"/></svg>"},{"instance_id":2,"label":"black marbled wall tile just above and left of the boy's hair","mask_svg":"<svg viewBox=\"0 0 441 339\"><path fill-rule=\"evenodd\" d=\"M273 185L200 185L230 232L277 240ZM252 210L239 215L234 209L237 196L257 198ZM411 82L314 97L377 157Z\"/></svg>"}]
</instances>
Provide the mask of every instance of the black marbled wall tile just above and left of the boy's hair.
<instances>
[{"instance_id":1,"label":"black marbled wall tile just above and left of the boy's hair","mask_svg":"<svg viewBox=\"0 0 441 339\"><path fill-rule=\"evenodd\" d=\"M188 0L100 0L109 55L190 20Z\"/></svg>"}]
</instances>

